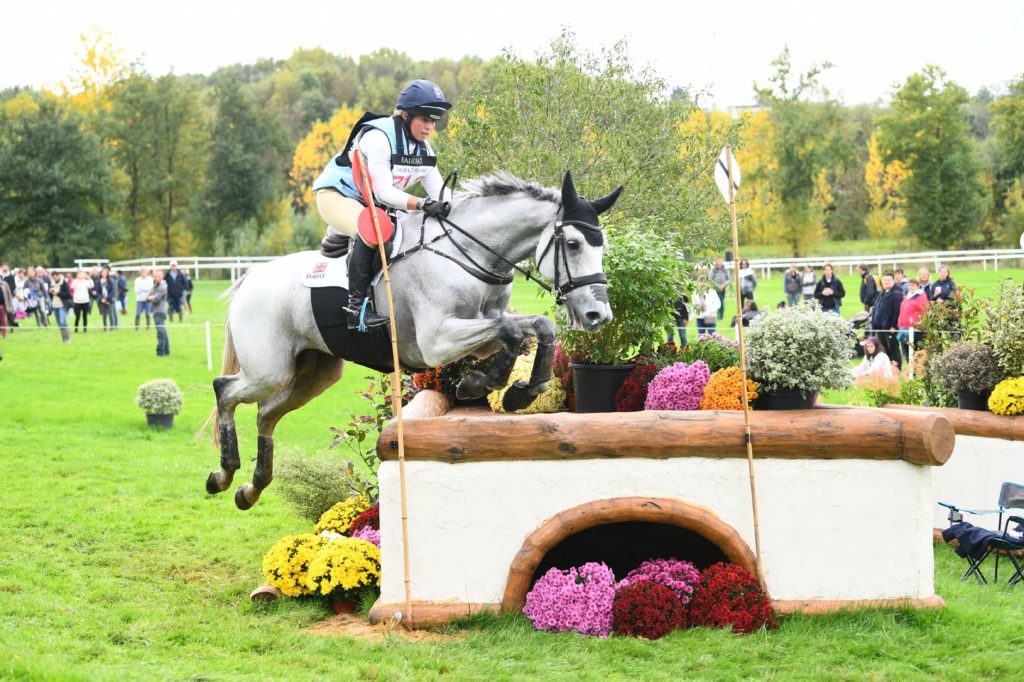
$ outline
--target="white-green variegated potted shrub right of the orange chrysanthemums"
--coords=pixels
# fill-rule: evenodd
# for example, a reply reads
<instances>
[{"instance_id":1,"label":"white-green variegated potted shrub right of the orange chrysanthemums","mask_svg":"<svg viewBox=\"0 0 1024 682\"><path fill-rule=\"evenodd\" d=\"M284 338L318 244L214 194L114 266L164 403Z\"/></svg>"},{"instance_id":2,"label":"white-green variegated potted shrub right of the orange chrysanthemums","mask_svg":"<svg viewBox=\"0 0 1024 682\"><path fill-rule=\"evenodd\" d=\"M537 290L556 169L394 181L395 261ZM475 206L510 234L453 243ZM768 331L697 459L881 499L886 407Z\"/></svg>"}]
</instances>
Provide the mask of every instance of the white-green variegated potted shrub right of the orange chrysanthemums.
<instances>
[{"instance_id":1,"label":"white-green variegated potted shrub right of the orange chrysanthemums","mask_svg":"<svg viewBox=\"0 0 1024 682\"><path fill-rule=\"evenodd\" d=\"M758 407L800 410L819 391L848 386L856 337L839 315L801 306L759 315L748 328L746 367L761 386Z\"/></svg>"}]
</instances>

